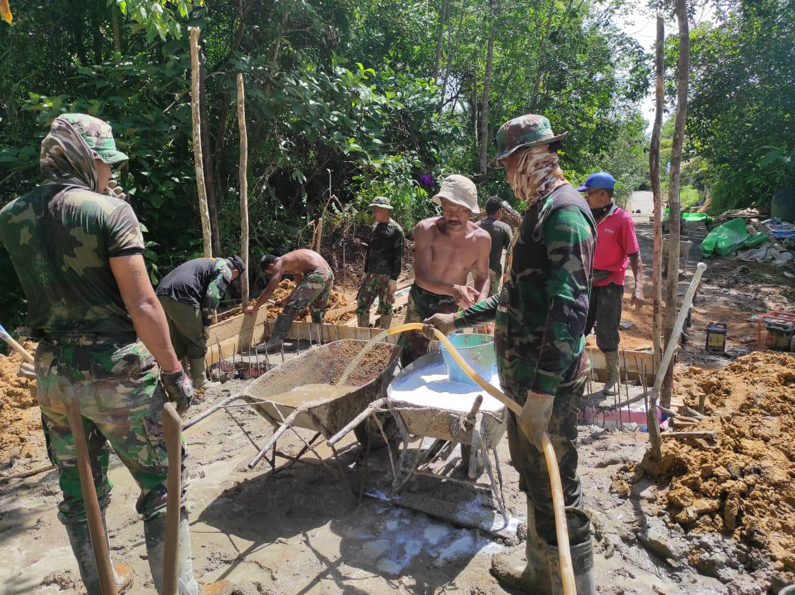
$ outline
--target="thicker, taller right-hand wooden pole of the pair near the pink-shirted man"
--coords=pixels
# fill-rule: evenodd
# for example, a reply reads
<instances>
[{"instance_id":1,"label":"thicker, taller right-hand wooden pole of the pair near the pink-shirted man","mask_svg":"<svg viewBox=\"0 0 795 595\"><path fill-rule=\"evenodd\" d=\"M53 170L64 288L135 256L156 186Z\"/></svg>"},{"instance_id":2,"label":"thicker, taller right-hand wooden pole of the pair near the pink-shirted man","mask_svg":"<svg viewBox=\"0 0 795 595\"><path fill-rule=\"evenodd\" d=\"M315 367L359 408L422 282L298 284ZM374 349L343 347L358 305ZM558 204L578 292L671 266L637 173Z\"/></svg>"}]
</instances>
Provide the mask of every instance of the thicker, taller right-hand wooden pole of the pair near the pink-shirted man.
<instances>
[{"instance_id":1,"label":"thicker, taller right-hand wooden pole of the pair near the pink-shirted man","mask_svg":"<svg viewBox=\"0 0 795 595\"><path fill-rule=\"evenodd\" d=\"M690 74L690 30L686 0L677 0L679 25L679 63L677 64L677 119L673 127L671 171L668 182L668 224L671 228L668 243L668 303L665 309L665 340L673 332L677 318L677 286L679 282L679 177L684 145L684 122L688 115L688 78ZM665 373L660 403L670 406L673 395L673 362Z\"/></svg>"}]
</instances>

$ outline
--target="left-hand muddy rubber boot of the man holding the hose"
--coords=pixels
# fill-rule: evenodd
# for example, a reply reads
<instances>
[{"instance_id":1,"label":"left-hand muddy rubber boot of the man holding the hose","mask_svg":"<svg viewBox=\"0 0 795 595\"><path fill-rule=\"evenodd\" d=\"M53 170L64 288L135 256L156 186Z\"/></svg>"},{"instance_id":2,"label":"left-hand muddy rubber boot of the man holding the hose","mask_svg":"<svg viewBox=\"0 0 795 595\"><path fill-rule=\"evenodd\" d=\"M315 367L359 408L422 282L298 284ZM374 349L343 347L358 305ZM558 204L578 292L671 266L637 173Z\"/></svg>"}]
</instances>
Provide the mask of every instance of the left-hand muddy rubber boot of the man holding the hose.
<instances>
[{"instance_id":1,"label":"left-hand muddy rubber boot of the man holding the hose","mask_svg":"<svg viewBox=\"0 0 795 595\"><path fill-rule=\"evenodd\" d=\"M547 544L536 532L536 515L533 502L527 500L527 541L524 551L522 546L491 558L491 572L498 581L527 593L551 595L552 582L549 577L547 562Z\"/></svg>"}]
</instances>

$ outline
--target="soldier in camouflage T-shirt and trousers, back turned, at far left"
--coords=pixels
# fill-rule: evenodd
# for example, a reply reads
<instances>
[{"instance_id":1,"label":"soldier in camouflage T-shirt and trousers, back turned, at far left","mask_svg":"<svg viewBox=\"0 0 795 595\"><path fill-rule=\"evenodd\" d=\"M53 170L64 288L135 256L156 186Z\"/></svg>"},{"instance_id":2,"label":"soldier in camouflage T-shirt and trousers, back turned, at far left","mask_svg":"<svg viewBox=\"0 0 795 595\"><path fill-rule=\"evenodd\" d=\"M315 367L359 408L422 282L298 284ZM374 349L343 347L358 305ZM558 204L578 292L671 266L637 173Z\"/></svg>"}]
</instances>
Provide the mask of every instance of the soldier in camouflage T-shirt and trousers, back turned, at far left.
<instances>
[{"instance_id":1,"label":"soldier in camouflage T-shirt and trousers, back turned, at far left","mask_svg":"<svg viewBox=\"0 0 795 595\"><path fill-rule=\"evenodd\" d=\"M58 516L92 595L99 576L64 403L80 405L103 519L111 448L140 486L136 510L162 592L168 457L161 414L167 398L183 410L192 399L149 284L138 220L108 187L111 165L124 160L106 122L61 115L41 143L41 185L0 211L0 239L28 298L27 334L39 341L37 395L63 492ZM180 593L198 593L184 509L179 563Z\"/></svg>"}]
</instances>

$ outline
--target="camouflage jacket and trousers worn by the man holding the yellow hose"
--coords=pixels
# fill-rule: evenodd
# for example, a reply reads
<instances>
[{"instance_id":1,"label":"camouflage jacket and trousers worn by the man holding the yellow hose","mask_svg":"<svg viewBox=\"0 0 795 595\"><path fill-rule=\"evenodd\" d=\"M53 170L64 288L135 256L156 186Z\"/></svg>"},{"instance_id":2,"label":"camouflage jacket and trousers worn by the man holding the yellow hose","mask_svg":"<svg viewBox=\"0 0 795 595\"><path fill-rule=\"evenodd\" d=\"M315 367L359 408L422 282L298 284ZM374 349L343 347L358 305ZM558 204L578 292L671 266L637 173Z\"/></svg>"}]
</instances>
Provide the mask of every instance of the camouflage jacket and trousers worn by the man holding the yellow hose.
<instances>
[{"instance_id":1,"label":"camouflage jacket and trousers worn by the man holding the yellow hose","mask_svg":"<svg viewBox=\"0 0 795 595\"><path fill-rule=\"evenodd\" d=\"M498 296L456 318L463 329L494 321L502 390L520 405L528 391L553 395L548 432L563 484L572 546L591 539L577 475L577 418L588 372L584 327L595 245L588 205L569 185L525 213ZM509 413L508 444L519 488L533 501L536 531L556 545L555 515L544 453L529 443Z\"/></svg>"}]
</instances>

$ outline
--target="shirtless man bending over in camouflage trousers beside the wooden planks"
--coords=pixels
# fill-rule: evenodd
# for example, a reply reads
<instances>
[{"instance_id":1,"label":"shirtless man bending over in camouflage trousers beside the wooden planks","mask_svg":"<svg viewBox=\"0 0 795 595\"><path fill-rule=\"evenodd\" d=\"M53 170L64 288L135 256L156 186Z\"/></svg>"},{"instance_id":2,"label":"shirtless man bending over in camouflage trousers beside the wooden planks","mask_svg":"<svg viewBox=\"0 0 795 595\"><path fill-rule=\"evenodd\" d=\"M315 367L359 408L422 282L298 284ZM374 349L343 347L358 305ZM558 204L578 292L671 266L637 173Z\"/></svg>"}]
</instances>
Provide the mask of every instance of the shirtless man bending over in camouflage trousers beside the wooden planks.
<instances>
[{"instance_id":1,"label":"shirtless man bending over in camouflage trousers beside the wooden planks","mask_svg":"<svg viewBox=\"0 0 795 595\"><path fill-rule=\"evenodd\" d=\"M262 304L270 299L282 275L292 274L296 284L292 294L276 302L276 305L283 305L285 309L276 318L268 342L257 347L258 351L271 352L287 336L290 325L301 310L309 309L312 322L323 322L328 294L334 285L334 273L326 259L317 252L304 248L293 250L284 256L266 254L260 260L260 266L266 274L270 274L270 282L257 302L243 310L246 314L256 314Z\"/></svg>"}]
</instances>

